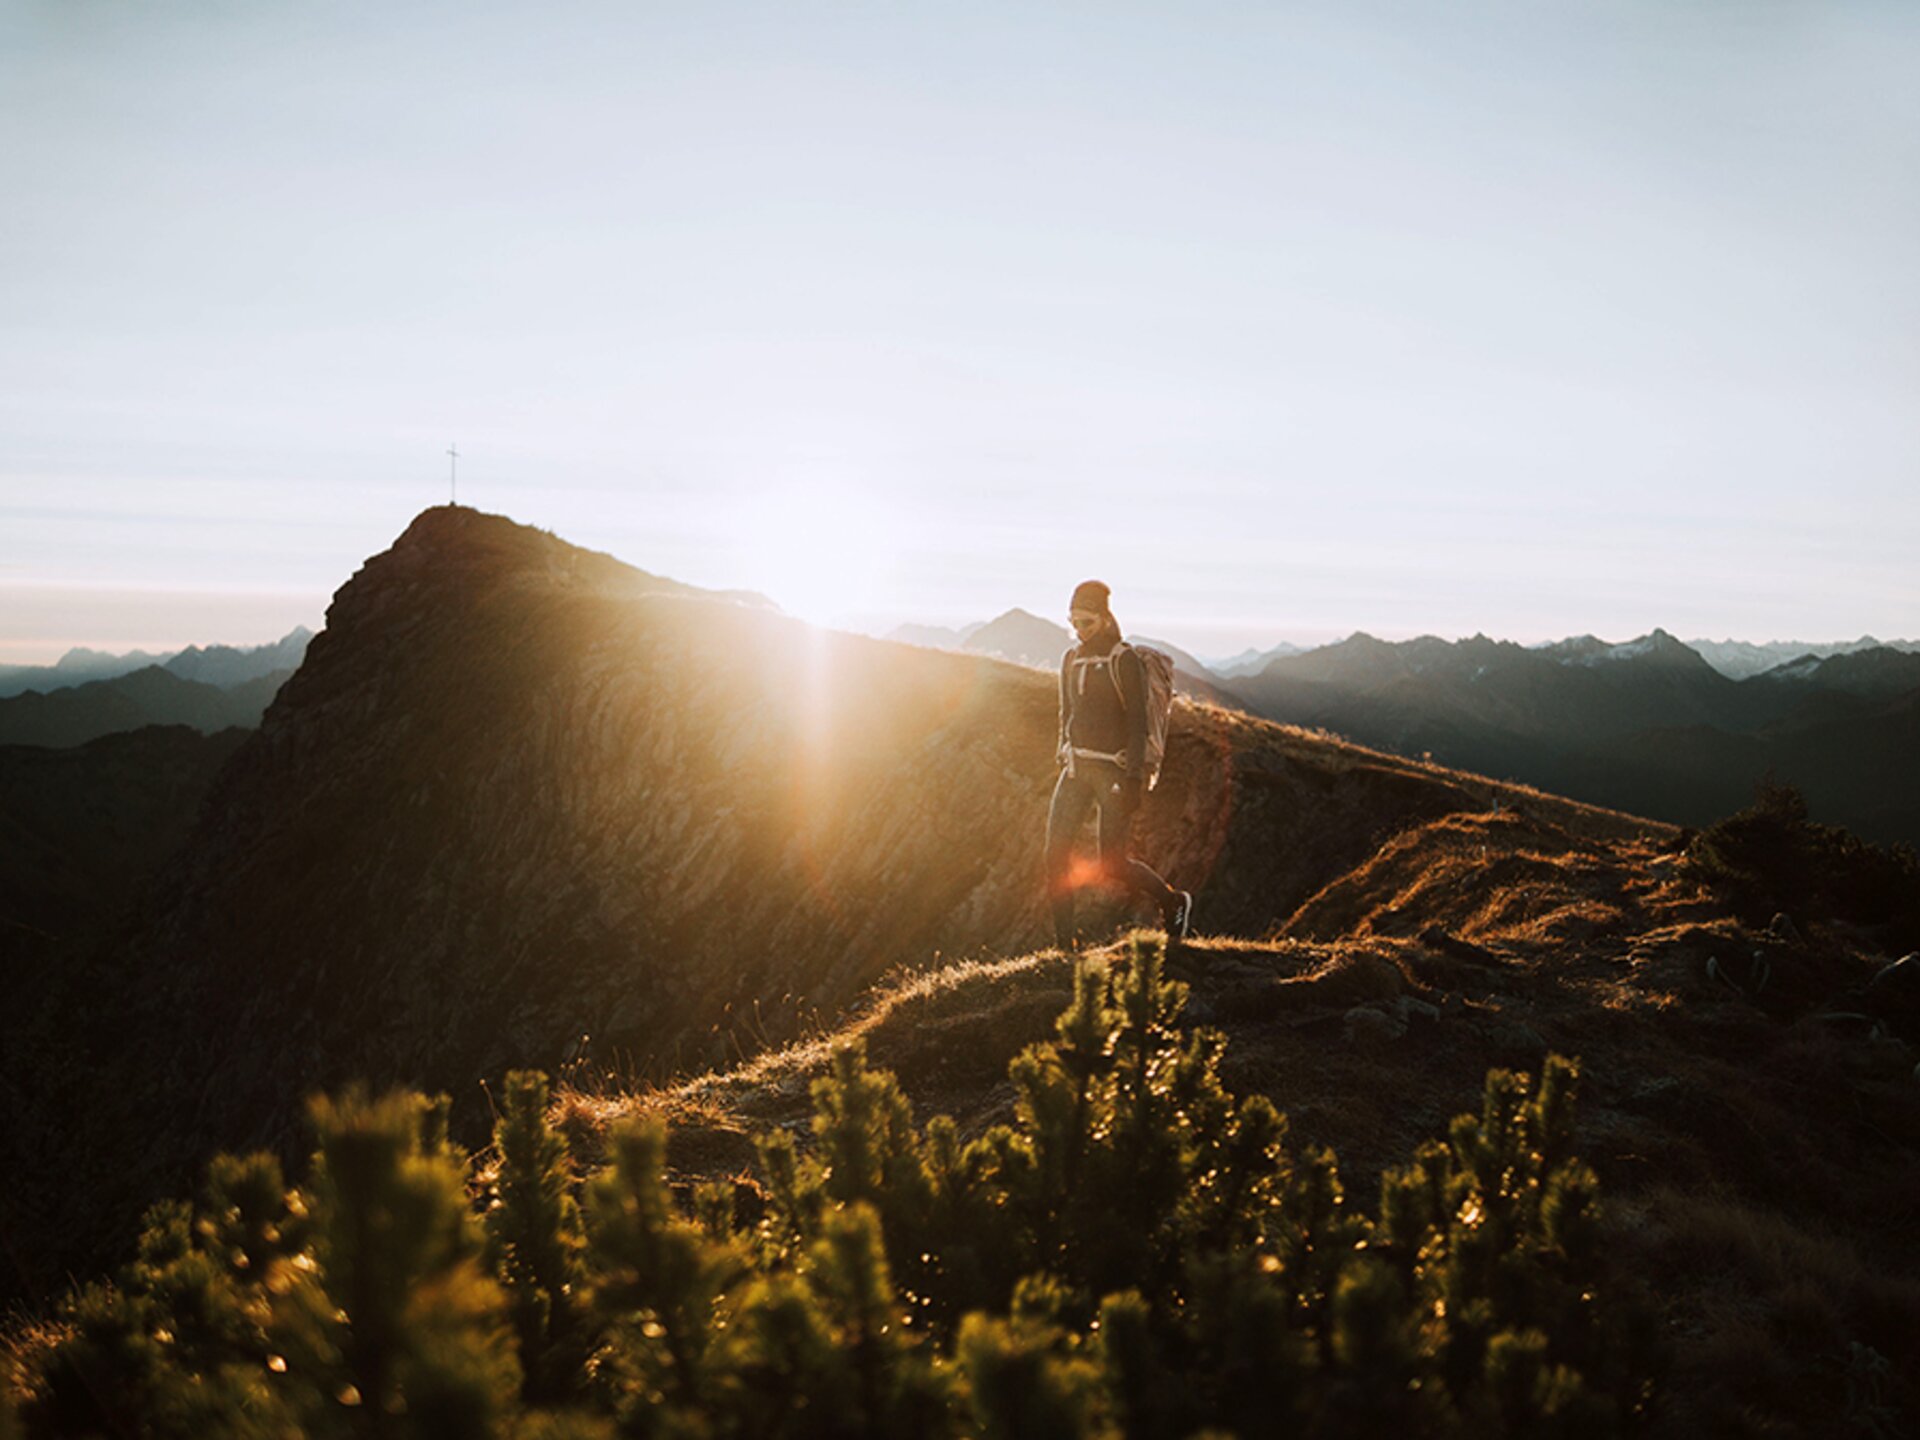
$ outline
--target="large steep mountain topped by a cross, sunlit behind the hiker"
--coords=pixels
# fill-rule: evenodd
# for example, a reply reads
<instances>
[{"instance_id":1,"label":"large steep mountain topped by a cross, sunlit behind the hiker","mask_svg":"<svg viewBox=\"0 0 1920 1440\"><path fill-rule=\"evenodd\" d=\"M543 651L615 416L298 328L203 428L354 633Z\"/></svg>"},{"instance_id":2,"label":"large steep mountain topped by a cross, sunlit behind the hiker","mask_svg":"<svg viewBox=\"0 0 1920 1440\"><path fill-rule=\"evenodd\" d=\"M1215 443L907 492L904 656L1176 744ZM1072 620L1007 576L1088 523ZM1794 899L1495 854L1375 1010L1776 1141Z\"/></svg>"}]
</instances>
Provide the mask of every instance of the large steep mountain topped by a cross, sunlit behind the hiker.
<instances>
[{"instance_id":1,"label":"large steep mountain topped by a cross, sunlit behind the hiker","mask_svg":"<svg viewBox=\"0 0 1920 1440\"><path fill-rule=\"evenodd\" d=\"M315 1087L470 1106L476 1079L582 1035L653 1073L701 1066L899 966L1031 948L1054 707L1050 672L420 515L334 597L163 904L98 962L84 1129L144 1139L84 1233L125 1233L211 1146L288 1140ZM1647 831L1181 705L1140 849L1206 929L1261 933L1400 829L1515 801Z\"/></svg>"}]
</instances>

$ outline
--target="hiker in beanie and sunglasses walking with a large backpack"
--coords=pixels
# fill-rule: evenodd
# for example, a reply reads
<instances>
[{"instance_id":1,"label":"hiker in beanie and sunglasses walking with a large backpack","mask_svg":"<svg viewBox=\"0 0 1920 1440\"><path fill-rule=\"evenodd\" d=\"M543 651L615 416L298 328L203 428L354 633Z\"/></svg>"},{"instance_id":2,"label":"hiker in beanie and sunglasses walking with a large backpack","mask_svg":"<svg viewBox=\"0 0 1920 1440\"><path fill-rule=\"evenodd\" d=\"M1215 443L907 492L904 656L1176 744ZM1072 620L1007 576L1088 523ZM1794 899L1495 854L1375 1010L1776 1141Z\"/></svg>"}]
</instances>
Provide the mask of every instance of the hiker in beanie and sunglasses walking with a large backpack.
<instances>
[{"instance_id":1,"label":"hiker in beanie and sunglasses walking with a large backpack","mask_svg":"<svg viewBox=\"0 0 1920 1440\"><path fill-rule=\"evenodd\" d=\"M1187 939L1192 920L1192 895L1173 889L1152 866L1127 852L1140 795L1158 778L1148 768L1148 745L1150 737L1162 747L1165 743L1164 712L1171 705L1173 664L1152 653L1154 662L1164 666L1162 716L1154 733L1148 662L1119 637L1119 624L1108 609L1110 593L1098 580L1073 589L1068 620L1079 645L1060 657L1060 780L1046 808L1046 893L1054 908L1054 939L1062 948L1073 945L1073 837L1089 810L1098 812L1102 876L1160 906L1167 945Z\"/></svg>"}]
</instances>

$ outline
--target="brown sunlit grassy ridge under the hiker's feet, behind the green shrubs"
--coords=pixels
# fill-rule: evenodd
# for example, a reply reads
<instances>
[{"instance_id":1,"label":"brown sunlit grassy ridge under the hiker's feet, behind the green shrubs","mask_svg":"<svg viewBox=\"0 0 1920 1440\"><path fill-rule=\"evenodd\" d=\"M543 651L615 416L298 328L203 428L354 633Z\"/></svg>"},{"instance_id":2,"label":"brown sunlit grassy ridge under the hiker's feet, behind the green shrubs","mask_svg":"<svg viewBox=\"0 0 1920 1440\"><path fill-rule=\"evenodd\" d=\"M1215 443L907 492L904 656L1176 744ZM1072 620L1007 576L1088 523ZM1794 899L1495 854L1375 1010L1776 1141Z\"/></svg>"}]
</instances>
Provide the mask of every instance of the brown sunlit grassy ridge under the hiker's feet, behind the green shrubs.
<instances>
[{"instance_id":1,"label":"brown sunlit grassy ridge under the hiker's feet, behind the green shrubs","mask_svg":"<svg viewBox=\"0 0 1920 1440\"><path fill-rule=\"evenodd\" d=\"M1757 993L1709 973L1713 958L1745 979L1755 954ZM1859 935L1741 927L1665 835L1509 797L1400 833L1267 937L1198 939L1185 973L1190 1018L1231 1039L1233 1087L1271 1094L1296 1146L1331 1144L1359 1196L1473 1108L1490 1066L1580 1056L1619 1254L1667 1304L1667 1425L1772 1434L1864 1421L1876 1394L1920 1409L1914 1052L1822 1018L1872 966ZM689 1177L751 1179L751 1131L804 1133L831 1044L864 1035L922 1117L973 1133L1010 1117L1006 1062L1050 1033L1069 975L1058 950L902 975L843 1027L733 1069L664 1089L576 1077L557 1116L591 1156L618 1117L660 1112Z\"/></svg>"}]
</instances>

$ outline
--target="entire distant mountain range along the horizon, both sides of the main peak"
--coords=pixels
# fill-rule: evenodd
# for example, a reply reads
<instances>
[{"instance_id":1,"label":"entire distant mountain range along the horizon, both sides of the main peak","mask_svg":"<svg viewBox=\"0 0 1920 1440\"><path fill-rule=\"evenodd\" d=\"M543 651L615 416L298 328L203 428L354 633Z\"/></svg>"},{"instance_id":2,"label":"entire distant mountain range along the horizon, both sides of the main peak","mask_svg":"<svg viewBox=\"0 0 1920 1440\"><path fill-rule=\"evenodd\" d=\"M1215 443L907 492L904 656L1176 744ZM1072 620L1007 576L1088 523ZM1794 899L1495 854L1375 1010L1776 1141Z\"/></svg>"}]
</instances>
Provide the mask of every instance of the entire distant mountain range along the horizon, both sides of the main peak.
<instances>
[{"instance_id":1,"label":"entire distant mountain range along the horizon, both sides of the main peak","mask_svg":"<svg viewBox=\"0 0 1920 1440\"><path fill-rule=\"evenodd\" d=\"M716 593L747 609L758 595ZM889 639L1052 670L1073 636L1010 609ZM84 745L142 726L213 733L261 722L313 634L171 655L69 651L0 668L0 745ZM1768 776L1814 814L1872 839L1920 843L1920 641L1624 643L1576 636L1517 645L1486 636L1382 641L1363 632L1208 664L1169 641L1183 693L1409 756L1511 776L1676 824L1743 806Z\"/></svg>"}]
</instances>

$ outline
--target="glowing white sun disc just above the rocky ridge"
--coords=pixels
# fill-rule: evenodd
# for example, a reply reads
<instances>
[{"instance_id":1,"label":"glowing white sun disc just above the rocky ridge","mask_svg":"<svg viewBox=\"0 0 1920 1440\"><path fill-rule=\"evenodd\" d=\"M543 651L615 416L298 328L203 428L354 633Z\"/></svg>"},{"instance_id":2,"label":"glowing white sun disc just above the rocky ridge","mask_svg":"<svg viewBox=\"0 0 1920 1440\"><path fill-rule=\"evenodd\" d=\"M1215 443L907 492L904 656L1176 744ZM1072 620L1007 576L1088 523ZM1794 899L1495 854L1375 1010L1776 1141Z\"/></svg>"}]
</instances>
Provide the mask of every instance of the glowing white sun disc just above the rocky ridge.
<instances>
[{"instance_id":1,"label":"glowing white sun disc just above the rocky ridge","mask_svg":"<svg viewBox=\"0 0 1920 1440\"><path fill-rule=\"evenodd\" d=\"M787 484L739 515L739 586L787 614L843 624L885 599L900 549L885 509L852 486Z\"/></svg>"}]
</instances>

